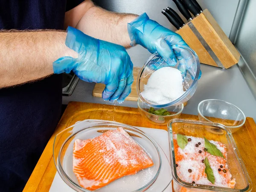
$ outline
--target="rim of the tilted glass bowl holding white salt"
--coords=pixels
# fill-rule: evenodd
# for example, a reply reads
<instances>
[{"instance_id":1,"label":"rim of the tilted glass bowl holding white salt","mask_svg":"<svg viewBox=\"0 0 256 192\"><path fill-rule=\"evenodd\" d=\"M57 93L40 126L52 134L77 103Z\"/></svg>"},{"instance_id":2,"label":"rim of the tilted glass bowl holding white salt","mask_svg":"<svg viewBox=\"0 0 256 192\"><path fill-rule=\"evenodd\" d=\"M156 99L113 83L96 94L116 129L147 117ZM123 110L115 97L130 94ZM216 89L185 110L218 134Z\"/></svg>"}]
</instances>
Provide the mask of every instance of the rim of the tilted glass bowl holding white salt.
<instances>
[{"instance_id":1,"label":"rim of the tilted glass bowl holding white salt","mask_svg":"<svg viewBox=\"0 0 256 192\"><path fill-rule=\"evenodd\" d=\"M199 62L199 58L198 58L198 55L196 54L196 52L191 49L190 47L187 47L187 46L183 46L183 45L173 45L172 46L173 49L175 48L182 48L182 49L186 49L188 50L189 52L191 52L194 56L195 56L195 60L196 60L196 63L197 63L197 70L196 70L196 74L195 74L195 78L192 82L192 84L189 86L189 88L186 90L186 92L180 96L178 99L172 101L172 102L169 102L169 103L166 103L166 104L162 104L162 105L156 105L156 104L152 104L150 102L147 102L139 93L139 87L140 87L140 76L141 74L143 73L143 71L145 70L145 66L149 63L149 61L152 60L152 58L154 58L155 56L158 55L157 52L154 52L148 59L147 61L143 64L143 66L141 67L140 69L140 73L138 75L138 78L137 78L137 93L138 93L138 96L139 98L148 106L150 107L155 107L155 108L165 108L165 107L168 107L168 106L171 106L171 105L175 105L177 103L179 103L180 101L182 101L184 98L186 98L186 96L189 95L189 93L192 91L192 89L194 88L195 84L198 83L198 78L199 78L199 75L200 75L200 62ZM186 101L184 101L186 102Z\"/></svg>"}]
</instances>

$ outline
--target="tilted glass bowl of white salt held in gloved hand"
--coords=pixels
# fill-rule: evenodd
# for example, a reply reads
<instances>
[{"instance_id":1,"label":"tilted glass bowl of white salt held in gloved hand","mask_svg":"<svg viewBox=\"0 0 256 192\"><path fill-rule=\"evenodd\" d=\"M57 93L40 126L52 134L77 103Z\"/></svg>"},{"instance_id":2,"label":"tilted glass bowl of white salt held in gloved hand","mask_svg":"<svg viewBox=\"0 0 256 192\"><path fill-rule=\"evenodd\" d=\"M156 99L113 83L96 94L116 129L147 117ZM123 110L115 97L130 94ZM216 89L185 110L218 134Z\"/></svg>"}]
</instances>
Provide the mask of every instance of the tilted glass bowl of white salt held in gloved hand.
<instances>
[{"instance_id":1,"label":"tilted glass bowl of white salt held in gloved hand","mask_svg":"<svg viewBox=\"0 0 256 192\"><path fill-rule=\"evenodd\" d=\"M147 84L148 78L151 76L151 74L160 69L161 67L169 67L168 64L166 64L165 61L160 57L158 57L157 53L154 53L151 55L148 60L145 62L143 67L140 70L140 73L138 75L137 79L137 92L139 95L139 98L148 106L153 107L153 108L166 108L172 105L181 105L185 102L187 102L195 93L195 90L198 85L198 78L200 76L200 62L198 59L198 56L196 53L190 49L189 47L184 47L184 46L172 46L172 49L174 52L179 52L180 53L180 58L177 60L177 64L173 66L174 68L179 69L182 72L183 76L183 90L185 93L180 96L178 99L175 101L166 103L164 105L157 105L154 103L151 103L143 98L141 96L141 92L143 92L144 85ZM184 61L182 58L182 55L186 54L189 59L187 61ZM180 60L179 60L180 59ZM183 67L178 67L180 63L186 62L186 65L184 64ZM151 64L152 63L157 63L158 67L152 68ZM185 67L185 68L184 68ZM171 82L170 82L171 83Z\"/></svg>"}]
</instances>

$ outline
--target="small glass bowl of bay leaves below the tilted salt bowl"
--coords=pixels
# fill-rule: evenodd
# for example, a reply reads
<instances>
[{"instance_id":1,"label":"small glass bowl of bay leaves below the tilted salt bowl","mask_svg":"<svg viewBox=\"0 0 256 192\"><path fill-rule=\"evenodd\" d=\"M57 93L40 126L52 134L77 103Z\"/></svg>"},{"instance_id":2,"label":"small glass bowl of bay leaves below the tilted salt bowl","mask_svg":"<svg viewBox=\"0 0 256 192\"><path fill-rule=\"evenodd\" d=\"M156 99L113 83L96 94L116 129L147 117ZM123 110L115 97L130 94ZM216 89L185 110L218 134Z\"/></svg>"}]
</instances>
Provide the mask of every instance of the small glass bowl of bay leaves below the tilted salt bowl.
<instances>
[{"instance_id":1,"label":"small glass bowl of bay leaves below the tilted salt bowl","mask_svg":"<svg viewBox=\"0 0 256 192\"><path fill-rule=\"evenodd\" d=\"M156 115L149 113L148 110L150 106L146 105L140 98L137 101L138 109L140 114L145 118L148 119L151 123L155 125L167 125L167 123L171 119L179 118L181 112L183 111L183 104L181 105L173 105L165 108L171 115ZM160 108L154 108L154 110L159 110Z\"/></svg>"}]
</instances>

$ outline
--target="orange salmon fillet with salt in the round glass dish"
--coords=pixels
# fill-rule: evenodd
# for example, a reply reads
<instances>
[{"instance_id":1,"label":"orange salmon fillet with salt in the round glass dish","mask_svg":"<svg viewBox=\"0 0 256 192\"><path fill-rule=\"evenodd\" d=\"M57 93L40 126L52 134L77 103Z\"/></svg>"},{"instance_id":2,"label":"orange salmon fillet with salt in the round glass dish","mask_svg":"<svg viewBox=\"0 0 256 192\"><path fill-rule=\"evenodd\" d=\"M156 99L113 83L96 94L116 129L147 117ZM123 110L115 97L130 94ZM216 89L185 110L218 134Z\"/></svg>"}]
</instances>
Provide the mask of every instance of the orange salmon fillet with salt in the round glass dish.
<instances>
[{"instance_id":1,"label":"orange salmon fillet with salt in the round glass dish","mask_svg":"<svg viewBox=\"0 0 256 192\"><path fill-rule=\"evenodd\" d=\"M92 191L153 165L143 148L121 127L74 143L73 172L79 185Z\"/></svg>"}]
</instances>

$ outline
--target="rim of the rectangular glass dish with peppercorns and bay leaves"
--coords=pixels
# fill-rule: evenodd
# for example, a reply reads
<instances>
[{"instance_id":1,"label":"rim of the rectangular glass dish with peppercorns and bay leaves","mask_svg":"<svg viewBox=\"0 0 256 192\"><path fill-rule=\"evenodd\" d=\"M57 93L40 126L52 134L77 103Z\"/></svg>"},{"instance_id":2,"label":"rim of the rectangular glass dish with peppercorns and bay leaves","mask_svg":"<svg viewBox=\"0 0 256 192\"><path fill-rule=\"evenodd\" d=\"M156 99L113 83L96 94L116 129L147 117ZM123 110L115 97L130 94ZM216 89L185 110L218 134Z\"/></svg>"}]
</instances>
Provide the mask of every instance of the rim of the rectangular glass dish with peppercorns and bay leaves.
<instances>
[{"instance_id":1,"label":"rim of the rectangular glass dish with peppercorns and bay leaves","mask_svg":"<svg viewBox=\"0 0 256 192\"><path fill-rule=\"evenodd\" d=\"M226 188L226 187L218 187L218 186L209 186L209 185L202 185L200 184L200 186L197 185L192 185L192 183L187 183L183 180L180 179L180 177L178 177L177 172L176 172L176 165L174 166L175 162L175 154L174 154L174 150L172 150L172 143L173 143L173 138L172 138L172 128L171 125L175 122L183 122L183 123L189 123L189 124L197 124L197 125L209 125L209 126L215 126L215 127L219 127L221 129L223 129L224 131L227 132L227 137L229 137L230 141L231 141L231 145L234 149L234 153L236 155L237 160L239 161L239 164L241 166L241 169L244 171L244 177L247 181L247 187L244 189L231 189L231 188ZM247 172L247 169L244 165L244 162L241 160L241 155L239 153L239 150L237 149L236 146L236 142L233 138L233 135L231 133L231 131L225 126L222 125L220 123L214 123L214 122L202 122L202 121L196 121L196 120L184 120L184 119L171 119L168 124L168 137L169 137L169 149L170 151L170 163L171 163L171 167L172 167L172 179L175 180L180 186L186 187L186 188L194 188L194 189L206 189L209 191L217 191L217 192L223 192L223 190L225 192L249 192L248 189L251 189L251 179L250 176ZM250 190L251 192L251 190Z\"/></svg>"}]
</instances>

